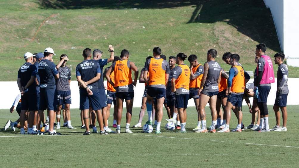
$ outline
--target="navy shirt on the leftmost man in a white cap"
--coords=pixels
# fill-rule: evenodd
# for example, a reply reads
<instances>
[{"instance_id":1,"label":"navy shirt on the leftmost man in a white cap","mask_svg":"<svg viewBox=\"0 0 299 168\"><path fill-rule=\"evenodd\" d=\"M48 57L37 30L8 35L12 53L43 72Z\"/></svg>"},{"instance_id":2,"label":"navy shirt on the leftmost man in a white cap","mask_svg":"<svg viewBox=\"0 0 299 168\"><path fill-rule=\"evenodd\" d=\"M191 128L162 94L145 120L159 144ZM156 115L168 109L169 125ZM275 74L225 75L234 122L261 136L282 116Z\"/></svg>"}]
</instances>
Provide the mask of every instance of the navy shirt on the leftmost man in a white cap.
<instances>
[{"instance_id":1,"label":"navy shirt on the leftmost man in a white cap","mask_svg":"<svg viewBox=\"0 0 299 168\"><path fill-rule=\"evenodd\" d=\"M21 78L22 87L26 86L31 76L36 77L36 66L29 62L25 62L18 71L18 78ZM35 81L25 90L25 93L36 94Z\"/></svg>"}]
</instances>

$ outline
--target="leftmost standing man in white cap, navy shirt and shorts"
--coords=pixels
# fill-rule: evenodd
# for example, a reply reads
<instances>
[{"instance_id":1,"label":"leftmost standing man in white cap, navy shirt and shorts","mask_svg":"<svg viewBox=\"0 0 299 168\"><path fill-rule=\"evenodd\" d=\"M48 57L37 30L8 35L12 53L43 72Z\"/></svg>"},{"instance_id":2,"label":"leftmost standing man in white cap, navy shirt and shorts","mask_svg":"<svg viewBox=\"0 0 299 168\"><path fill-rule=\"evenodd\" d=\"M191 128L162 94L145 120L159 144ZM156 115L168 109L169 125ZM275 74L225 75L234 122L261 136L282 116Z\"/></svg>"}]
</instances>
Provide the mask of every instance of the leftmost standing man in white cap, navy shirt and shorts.
<instances>
[{"instance_id":1,"label":"leftmost standing man in white cap, navy shirt and shorts","mask_svg":"<svg viewBox=\"0 0 299 168\"><path fill-rule=\"evenodd\" d=\"M23 64L18 71L18 87L21 92L21 114L20 114L20 125L21 133L25 134L24 122L25 122L25 113L29 110L28 117L28 134L38 135L37 131L33 130L33 120L34 113L37 110L37 97L36 97L36 66L32 64L33 54L25 53L24 59L25 64Z\"/></svg>"}]
</instances>

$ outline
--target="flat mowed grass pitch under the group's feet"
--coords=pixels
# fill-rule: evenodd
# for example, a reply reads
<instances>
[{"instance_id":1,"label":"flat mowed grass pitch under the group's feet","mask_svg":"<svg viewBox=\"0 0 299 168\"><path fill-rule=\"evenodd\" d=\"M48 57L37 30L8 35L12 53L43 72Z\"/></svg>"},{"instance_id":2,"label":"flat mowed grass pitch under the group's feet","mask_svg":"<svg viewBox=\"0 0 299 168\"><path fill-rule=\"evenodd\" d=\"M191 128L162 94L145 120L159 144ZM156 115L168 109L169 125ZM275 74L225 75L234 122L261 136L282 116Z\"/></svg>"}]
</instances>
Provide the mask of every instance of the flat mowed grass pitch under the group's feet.
<instances>
[{"instance_id":1,"label":"flat mowed grass pitch under the group's feet","mask_svg":"<svg viewBox=\"0 0 299 168\"><path fill-rule=\"evenodd\" d=\"M193 133L197 124L194 107L187 109L187 133L166 131L163 119L160 135L145 134L132 128L138 121L139 108L133 109L131 130L121 134L83 136L80 111L72 109L72 125L64 127L61 136L19 135L19 129L0 132L0 167L298 167L298 107L288 106L288 131L258 133L251 130L230 133ZM275 125L272 106L269 125ZM113 109L112 109L113 110ZM111 113L112 114L112 110ZM251 114L243 106L243 122L250 124ZM211 123L209 108L207 125ZM0 123L15 121L16 112L0 110ZM164 111L164 118L166 118ZM112 128L112 116L109 127ZM143 124L147 120L144 116ZM237 119L232 114L231 129ZM62 124L61 124L62 125ZM115 130L113 128L112 130Z\"/></svg>"}]
</instances>

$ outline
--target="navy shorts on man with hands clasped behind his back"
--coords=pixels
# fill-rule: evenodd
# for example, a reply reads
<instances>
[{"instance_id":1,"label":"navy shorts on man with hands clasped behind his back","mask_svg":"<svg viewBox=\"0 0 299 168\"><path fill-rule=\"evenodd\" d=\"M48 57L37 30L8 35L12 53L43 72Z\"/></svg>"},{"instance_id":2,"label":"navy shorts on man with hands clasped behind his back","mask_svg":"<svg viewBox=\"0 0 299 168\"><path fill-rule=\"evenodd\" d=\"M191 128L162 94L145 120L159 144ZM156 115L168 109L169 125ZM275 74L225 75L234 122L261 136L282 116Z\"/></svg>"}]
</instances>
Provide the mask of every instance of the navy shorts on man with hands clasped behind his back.
<instances>
[{"instance_id":1,"label":"navy shorts on man with hands clasped behind his back","mask_svg":"<svg viewBox=\"0 0 299 168\"><path fill-rule=\"evenodd\" d=\"M92 90L92 95L88 95L85 89L80 89L80 110L89 110L89 103L93 110L101 110L99 90Z\"/></svg>"}]
</instances>

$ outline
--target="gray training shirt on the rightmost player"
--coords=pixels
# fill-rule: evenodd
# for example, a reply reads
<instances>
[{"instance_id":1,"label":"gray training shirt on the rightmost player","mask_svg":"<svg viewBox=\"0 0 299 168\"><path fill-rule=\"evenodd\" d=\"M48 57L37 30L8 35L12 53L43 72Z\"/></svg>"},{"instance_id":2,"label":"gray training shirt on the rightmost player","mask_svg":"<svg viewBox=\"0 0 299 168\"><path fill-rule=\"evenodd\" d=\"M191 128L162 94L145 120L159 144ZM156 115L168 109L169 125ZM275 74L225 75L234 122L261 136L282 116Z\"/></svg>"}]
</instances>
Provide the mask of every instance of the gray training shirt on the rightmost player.
<instances>
[{"instance_id":1,"label":"gray training shirt on the rightmost player","mask_svg":"<svg viewBox=\"0 0 299 168\"><path fill-rule=\"evenodd\" d=\"M280 64L277 70L277 92L279 95L289 93L288 77L289 77L288 66L286 64Z\"/></svg>"}]
</instances>

